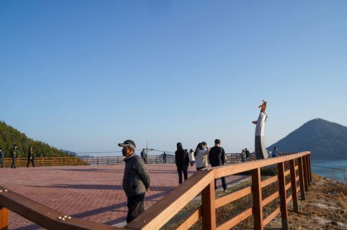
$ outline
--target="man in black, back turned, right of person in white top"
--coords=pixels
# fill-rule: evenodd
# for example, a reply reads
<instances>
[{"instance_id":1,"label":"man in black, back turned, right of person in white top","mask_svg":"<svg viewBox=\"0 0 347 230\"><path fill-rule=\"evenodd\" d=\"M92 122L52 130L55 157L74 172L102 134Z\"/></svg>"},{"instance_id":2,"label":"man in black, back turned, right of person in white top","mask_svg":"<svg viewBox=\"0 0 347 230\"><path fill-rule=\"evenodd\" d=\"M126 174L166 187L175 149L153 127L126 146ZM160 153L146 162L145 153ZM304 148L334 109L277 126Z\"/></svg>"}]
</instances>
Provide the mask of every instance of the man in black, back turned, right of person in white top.
<instances>
[{"instance_id":1,"label":"man in black, back turned, right of person in white top","mask_svg":"<svg viewBox=\"0 0 347 230\"><path fill-rule=\"evenodd\" d=\"M211 148L208 158L212 167L223 166L226 163L226 152L221 148L221 140L214 140L214 147ZM228 192L226 187L226 177L221 177L221 184L223 186L223 191ZM217 190L217 179L214 179L214 190Z\"/></svg>"}]
</instances>

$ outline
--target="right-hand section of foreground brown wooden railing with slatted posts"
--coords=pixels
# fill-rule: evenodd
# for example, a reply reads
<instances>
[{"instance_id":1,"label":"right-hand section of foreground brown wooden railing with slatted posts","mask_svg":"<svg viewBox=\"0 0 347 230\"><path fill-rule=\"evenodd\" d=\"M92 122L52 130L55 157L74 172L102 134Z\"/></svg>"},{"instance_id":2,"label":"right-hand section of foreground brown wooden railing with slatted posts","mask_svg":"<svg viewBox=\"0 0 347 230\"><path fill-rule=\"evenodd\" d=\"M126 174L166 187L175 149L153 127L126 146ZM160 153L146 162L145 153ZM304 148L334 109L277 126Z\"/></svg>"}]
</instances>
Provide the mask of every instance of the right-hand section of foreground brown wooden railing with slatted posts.
<instances>
[{"instance_id":1,"label":"right-hand section of foreground brown wooden railing with slatted posts","mask_svg":"<svg viewBox=\"0 0 347 230\"><path fill-rule=\"evenodd\" d=\"M285 163L289 163L289 170L285 170ZM260 168L277 165L278 175L261 180ZM214 179L235 175L240 172L251 170L252 186L243 188L240 191L231 193L224 197L215 199ZM298 170L298 173L296 172ZM290 175L291 181L286 184L285 178ZM191 200L201 193L201 206L192 213L176 229L189 229L202 218L204 230L222 230L235 227L242 220L253 215L254 229L264 229L279 213L282 218L282 229L289 229L288 226L288 203L293 200L294 211L298 213L298 192L301 193L301 200L305 200L305 192L308 191L312 180L310 152L299 152L281 157L273 157L257 161L235 163L226 166L214 167L211 170L199 170L192 177L189 177L183 184L174 188L168 195L153 204L147 211L139 215L135 220L126 225L126 229L154 230L160 229L165 223L183 209ZM297 186L299 181L300 186ZM274 182L279 183L279 191L269 197L262 199L262 188ZM287 197L287 190L291 188L292 195ZM241 197L252 194L253 207L240 213L234 218L216 225L216 209ZM263 218L263 207L269 202L280 197L280 207L273 211L266 218Z\"/></svg>"}]
</instances>

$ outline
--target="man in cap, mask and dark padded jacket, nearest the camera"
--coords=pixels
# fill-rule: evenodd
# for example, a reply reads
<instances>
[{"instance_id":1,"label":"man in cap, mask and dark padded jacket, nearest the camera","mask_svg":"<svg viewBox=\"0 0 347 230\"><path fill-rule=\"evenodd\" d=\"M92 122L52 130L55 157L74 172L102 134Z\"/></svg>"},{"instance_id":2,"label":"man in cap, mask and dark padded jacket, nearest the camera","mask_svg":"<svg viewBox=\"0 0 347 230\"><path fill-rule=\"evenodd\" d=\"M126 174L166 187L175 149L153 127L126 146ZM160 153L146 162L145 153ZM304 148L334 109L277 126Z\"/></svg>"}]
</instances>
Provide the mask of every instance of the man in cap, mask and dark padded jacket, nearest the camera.
<instances>
[{"instance_id":1,"label":"man in cap, mask and dark padded jacket, nearest the camera","mask_svg":"<svg viewBox=\"0 0 347 230\"><path fill-rule=\"evenodd\" d=\"M129 223L144 212L144 195L149 191L151 178L144 161L135 154L134 141L126 140L118 145L123 147L121 154L126 157L122 186L128 197L126 222Z\"/></svg>"}]
</instances>

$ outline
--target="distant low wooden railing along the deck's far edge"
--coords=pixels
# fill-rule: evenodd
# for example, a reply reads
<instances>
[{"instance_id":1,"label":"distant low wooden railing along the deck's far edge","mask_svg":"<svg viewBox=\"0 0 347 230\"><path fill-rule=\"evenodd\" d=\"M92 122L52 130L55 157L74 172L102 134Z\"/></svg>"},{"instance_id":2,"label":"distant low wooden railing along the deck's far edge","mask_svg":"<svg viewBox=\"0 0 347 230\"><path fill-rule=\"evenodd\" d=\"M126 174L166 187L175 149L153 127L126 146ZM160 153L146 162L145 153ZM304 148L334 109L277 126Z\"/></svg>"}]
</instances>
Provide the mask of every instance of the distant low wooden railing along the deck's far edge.
<instances>
[{"instance_id":1,"label":"distant low wooden railing along the deck's far edge","mask_svg":"<svg viewBox=\"0 0 347 230\"><path fill-rule=\"evenodd\" d=\"M103 166L103 165L115 165L124 164L123 156L115 157L35 157L35 166ZM226 163L238 163L242 162L239 153L227 153ZM251 153L251 157L248 160L254 160L254 154ZM28 158L17 158L17 167L26 167ZM147 163L164 163L162 155L149 155ZM174 155L167 155L166 163L175 163ZM3 159L4 167L10 167L12 164L12 158ZM32 166L31 162L29 166ZM1 230L1 229L0 229Z\"/></svg>"}]
</instances>

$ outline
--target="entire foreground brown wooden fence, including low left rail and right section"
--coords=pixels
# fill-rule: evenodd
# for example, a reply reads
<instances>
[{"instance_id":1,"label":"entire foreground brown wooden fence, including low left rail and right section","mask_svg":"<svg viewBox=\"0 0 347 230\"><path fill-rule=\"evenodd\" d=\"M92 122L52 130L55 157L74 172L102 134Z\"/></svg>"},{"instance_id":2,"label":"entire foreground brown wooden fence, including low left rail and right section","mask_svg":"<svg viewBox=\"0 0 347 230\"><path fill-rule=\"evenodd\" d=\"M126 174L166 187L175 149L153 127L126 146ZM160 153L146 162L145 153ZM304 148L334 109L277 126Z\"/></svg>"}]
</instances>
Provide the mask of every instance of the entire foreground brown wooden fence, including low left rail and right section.
<instances>
[{"instance_id":1,"label":"entire foreground brown wooden fence, including low left rail and right section","mask_svg":"<svg viewBox=\"0 0 347 230\"><path fill-rule=\"evenodd\" d=\"M242 220L253 215L254 229L259 230L263 229L266 224L280 213L282 218L282 229L287 230L289 229L287 205L293 200L294 211L298 213L298 192L301 193L301 200L305 200L305 192L308 191L310 182L312 182L312 172L310 152L283 155L282 157L214 167L211 170L199 170L194 173L192 177L189 177L189 179L183 182L183 184L174 188L168 195L162 197L161 200L127 224L125 229L160 229L160 227L173 218L178 211L193 200L196 195L201 193L201 206L176 229L189 229L199 218L202 218L203 230L230 229L235 227L235 225L239 224ZM285 170L285 163L289 163L289 170ZM273 164L277 164L278 166L278 175L261 181L260 168ZM248 170L252 172L252 186L220 197L217 200L215 199L214 179L235 175L239 172ZM288 175L291 176L291 182L286 184L285 177ZM297 186L298 181L300 186ZM279 182L280 190L262 199L262 188L269 186L273 182ZM292 195L287 196L287 190L289 188L292 190ZM253 207L217 227L216 209L249 194L253 195ZM280 197L280 207L266 218L263 218L263 207L277 197ZM22 215L24 218L46 229L119 229L106 224L69 218L65 216L65 213L51 209L12 191L7 191L6 188L0 186L1 230L8 229L9 210L18 215Z\"/></svg>"}]
</instances>

